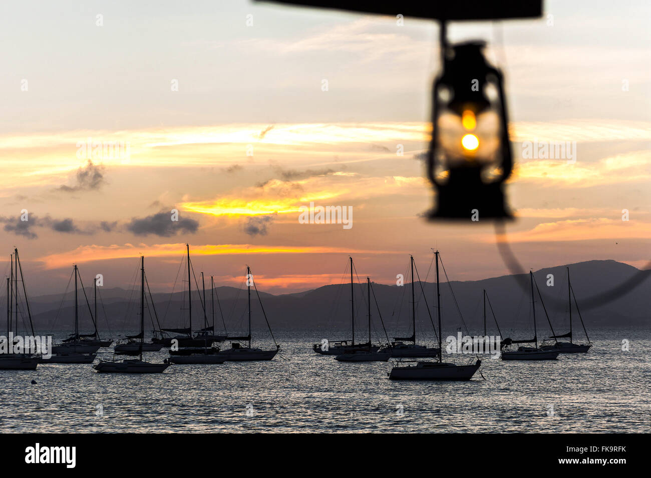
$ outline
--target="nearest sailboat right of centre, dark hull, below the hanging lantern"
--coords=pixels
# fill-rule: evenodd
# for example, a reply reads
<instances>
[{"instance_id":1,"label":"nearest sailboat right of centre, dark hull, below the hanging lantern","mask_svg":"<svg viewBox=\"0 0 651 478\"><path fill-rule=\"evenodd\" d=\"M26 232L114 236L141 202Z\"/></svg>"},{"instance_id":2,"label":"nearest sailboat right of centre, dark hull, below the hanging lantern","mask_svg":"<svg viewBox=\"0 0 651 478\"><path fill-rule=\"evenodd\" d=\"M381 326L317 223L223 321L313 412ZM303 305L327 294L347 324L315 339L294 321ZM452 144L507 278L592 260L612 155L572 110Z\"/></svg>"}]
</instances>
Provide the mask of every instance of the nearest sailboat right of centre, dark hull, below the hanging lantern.
<instances>
[{"instance_id":1,"label":"nearest sailboat right of centre, dark hull, below the hanging lantern","mask_svg":"<svg viewBox=\"0 0 651 478\"><path fill-rule=\"evenodd\" d=\"M439 251L436 251L434 254L436 259L436 309L439 325L439 360L438 362L417 361L415 365L402 365L404 362L398 362L398 365L393 367L391 372L387 374L392 380L470 380L482 364L481 360L477 360L475 364L468 365L456 365L443 362L443 354L441 353L441 336L443 335L443 329L441 328Z\"/></svg>"}]
</instances>

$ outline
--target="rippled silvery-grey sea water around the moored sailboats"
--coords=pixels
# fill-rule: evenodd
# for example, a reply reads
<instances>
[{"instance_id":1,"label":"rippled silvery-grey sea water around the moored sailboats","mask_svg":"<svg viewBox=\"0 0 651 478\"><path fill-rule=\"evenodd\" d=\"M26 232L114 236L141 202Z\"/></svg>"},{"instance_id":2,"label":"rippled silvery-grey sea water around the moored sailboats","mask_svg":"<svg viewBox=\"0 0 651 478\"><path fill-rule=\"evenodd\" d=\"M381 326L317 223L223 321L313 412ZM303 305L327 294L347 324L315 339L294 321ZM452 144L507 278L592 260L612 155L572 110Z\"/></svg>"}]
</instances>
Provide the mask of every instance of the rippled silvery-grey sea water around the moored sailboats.
<instances>
[{"instance_id":1,"label":"rippled silvery-grey sea water around the moored sailboats","mask_svg":"<svg viewBox=\"0 0 651 478\"><path fill-rule=\"evenodd\" d=\"M391 362L314 354L323 332L278 332L288 360L271 362L171 365L154 375L38 365L0 371L0 431L648 432L650 332L592 330L588 354L551 362L487 357L486 380L471 382L389 380ZM167 350L145 355L161 362Z\"/></svg>"}]
</instances>

